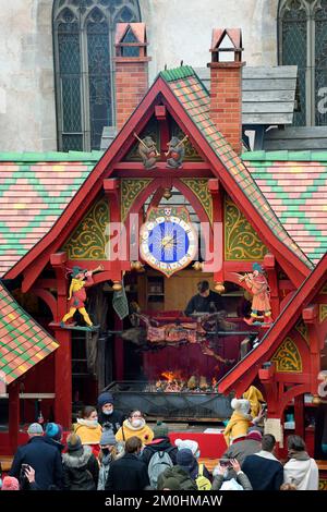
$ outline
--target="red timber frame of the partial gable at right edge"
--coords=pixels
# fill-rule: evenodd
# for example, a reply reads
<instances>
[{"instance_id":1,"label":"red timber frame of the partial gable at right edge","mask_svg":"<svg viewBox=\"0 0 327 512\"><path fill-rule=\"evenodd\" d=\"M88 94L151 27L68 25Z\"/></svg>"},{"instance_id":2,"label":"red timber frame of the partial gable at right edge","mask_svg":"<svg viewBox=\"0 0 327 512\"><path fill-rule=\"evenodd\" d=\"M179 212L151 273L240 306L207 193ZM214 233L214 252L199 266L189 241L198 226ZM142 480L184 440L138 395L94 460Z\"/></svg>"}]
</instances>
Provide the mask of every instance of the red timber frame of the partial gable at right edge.
<instances>
[{"instance_id":1,"label":"red timber frame of the partial gable at right edge","mask_svg":"<svg viewBox=\"0 0 327 512\"><path fill-rule=\"evenodd\" d=\"M315 270L300 287L292 301L282 310L259 345L244 359L232 368L219 382L218 390L228 393L232 390L240 397L254 381L261 380L268 402L270 417L280 418L288 403L294 399L295 419L300 424L298 434L303 430L301 410L303 411L303 394L317 397L318 374L320 371L320 354L327 338L327 321L319 322L318 305L322 303L319 292L327 283L327 254ZM308 331L308 342L293 330L300 319L303 319ZM303 370L299 374L278 373L272 364L268 368L263 363L269 362L284 338L290 334L300 352Z\"/></svg>"}]
</instances>

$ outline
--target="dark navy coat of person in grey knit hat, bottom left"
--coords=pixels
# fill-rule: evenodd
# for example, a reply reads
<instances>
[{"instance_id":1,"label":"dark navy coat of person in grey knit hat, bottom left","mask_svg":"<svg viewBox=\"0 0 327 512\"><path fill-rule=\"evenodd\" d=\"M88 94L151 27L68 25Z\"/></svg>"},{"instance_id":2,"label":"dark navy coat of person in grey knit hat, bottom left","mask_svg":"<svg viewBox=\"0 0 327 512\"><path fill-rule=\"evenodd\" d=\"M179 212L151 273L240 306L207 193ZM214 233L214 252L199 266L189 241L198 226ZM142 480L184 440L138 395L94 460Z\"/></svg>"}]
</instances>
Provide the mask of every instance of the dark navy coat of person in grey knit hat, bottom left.
<instances>
[{"instance_id":1,"label":"dark navy coat of person in grey knit hat, bottom left","mask_svg":"<svg viewBox=\"0 0 327 512\"><path fill-rule=\"evenodd\" d=\"M58 448L49 444L45 437L36 436L20 447L15 453L10 476L20 479L22 464L28 464L35 471L35 481L39 489L49 486L62 488L62 463Z\"/></svg>"}]
</instances>

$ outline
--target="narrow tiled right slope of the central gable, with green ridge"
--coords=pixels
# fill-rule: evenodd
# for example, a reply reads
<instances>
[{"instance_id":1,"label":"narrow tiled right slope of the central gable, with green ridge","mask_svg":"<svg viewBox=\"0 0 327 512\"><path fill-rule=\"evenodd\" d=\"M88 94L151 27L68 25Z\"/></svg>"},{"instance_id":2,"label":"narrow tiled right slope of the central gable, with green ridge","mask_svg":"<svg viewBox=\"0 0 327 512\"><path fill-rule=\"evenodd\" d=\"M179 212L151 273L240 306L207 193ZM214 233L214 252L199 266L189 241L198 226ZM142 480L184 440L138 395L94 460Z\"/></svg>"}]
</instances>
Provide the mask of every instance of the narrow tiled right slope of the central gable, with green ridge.
<instances>
[{"instance_id":1,"label":"narrow tiled right slope of the central gable, with green ridge","mask_svg":"<svg viewBox=\"0 0 327 512\"><path fill-rule=\"evenodd\" d=\"M160 76L168 83L169 87L184 107L193 122L198 126L217 157L229 171L240 190L247 196L249 200L259 211L261 217L275 233L275 235L287 245L303 263L312 267L300 247L283 229L269 203L255 183L252 174L241 158L233 151L230 144L218 132L210 119L210 97L203 83L191 66L181 66L175 70L162 71Z\"/></svg>"}]
</instances>

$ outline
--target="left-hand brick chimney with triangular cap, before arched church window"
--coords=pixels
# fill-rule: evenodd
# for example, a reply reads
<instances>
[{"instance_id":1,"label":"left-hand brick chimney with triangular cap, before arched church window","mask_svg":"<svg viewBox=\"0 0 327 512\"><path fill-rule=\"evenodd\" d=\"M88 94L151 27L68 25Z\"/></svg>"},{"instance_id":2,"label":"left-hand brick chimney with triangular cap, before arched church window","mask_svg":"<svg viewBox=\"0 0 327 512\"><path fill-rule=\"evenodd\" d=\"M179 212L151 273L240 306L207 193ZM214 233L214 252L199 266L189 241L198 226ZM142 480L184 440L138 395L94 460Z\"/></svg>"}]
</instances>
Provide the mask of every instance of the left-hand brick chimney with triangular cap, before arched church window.
<instances>
[{"instance_id":1,"label":"left-hand brick chimney with triangular cap, before arched church window","mask_svg":"<svg viewBox=\"0 0 327 512\"><path fill-rule=\"evenodd\" d=\"M145 23L118 23L114 46L116 124L120 130L148 89Z\"/></svg>"}]
</instances>

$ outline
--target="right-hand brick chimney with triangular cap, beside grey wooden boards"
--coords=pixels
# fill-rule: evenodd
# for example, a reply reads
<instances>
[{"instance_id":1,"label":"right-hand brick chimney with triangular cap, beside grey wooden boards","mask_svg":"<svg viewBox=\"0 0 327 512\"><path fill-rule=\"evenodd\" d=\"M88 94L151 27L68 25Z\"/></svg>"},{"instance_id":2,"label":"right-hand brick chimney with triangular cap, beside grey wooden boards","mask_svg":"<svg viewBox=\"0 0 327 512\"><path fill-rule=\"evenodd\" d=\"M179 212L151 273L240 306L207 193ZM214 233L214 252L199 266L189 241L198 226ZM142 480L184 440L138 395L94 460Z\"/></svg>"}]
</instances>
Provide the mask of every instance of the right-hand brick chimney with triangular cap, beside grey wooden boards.
<instances>
[{"instance_id":1,"label":"right-hand brick chimney with triangular cap, beside grey wooden boards","mask_svg":"<svg viewBox=\"0 0 327 512\"><path fill-rule=\"evenodd\" d=\"M242 32L214 28L210 68L210 117L234 151L242 153Z\"/></svg>"}]
</instances>

